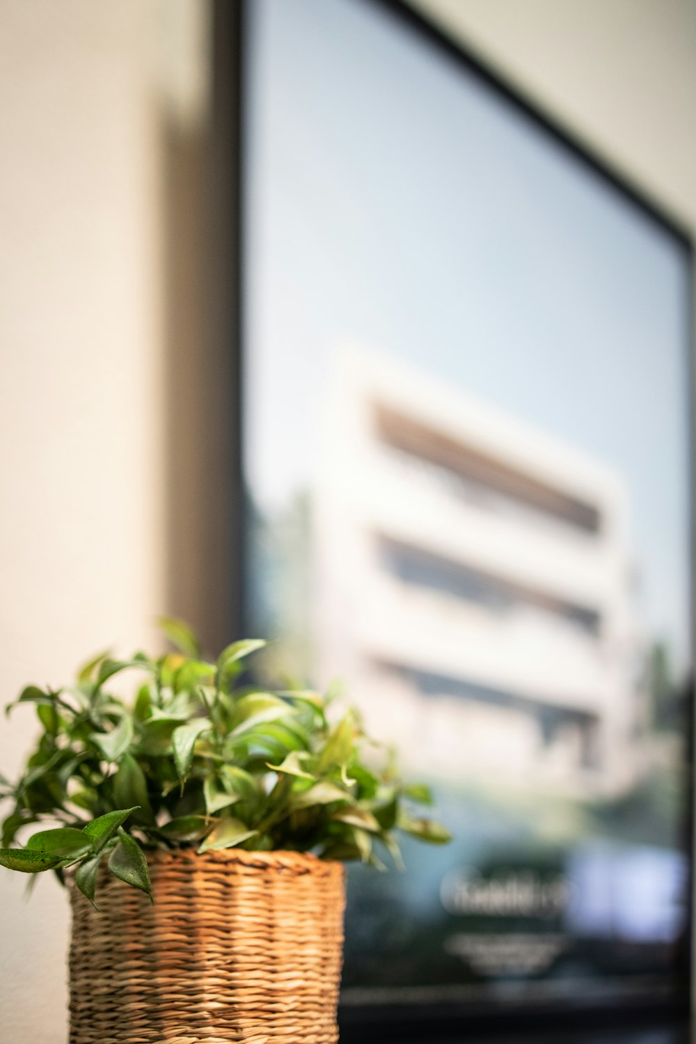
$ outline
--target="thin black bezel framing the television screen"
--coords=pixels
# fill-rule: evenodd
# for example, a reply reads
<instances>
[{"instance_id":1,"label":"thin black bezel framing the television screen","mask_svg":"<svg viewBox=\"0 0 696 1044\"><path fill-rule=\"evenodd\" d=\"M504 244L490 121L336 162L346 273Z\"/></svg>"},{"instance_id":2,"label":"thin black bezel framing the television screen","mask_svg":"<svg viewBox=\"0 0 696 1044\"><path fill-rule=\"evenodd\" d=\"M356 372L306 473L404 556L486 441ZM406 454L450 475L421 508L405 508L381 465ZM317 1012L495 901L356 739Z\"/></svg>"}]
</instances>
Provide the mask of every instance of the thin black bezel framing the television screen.
<instances>
[{"instance_id":1,"label":"thin black bezel framing the television screen","mask_svg":"<svg viewBox=\"0 0 696 1044\"><path fill-rule=\"evenodd\" d=\"M243 484L243 387L244 387L244 242L246 236L246 205L244 184L246 176L245 105L246 77L250 61L248 47L248 11L255 0L214 0L213 6L213 125L211 147L211 258L213 271L215 340L218 352L230 360L226 401L227 430L219 432L225 444L233 466L231 476L232 498L227 511L229 547L223 557L230 562L230 601L226 617L231 633L244 633L247 616L244 582L244 540L246 526L245 494ZM488 65L475 50L446 35L410 7L406 0L350 0L370 6L400 25L408 27L424 47L433 55L449 61L474 73L491 93L513 108L521 119L542 129L560 145L577 163L599 176L624 201L630 203L647 220L671 235L685 252L685 263L690 272L690 293L687 301L687 354L685 375L690 420L690 536L692 575L696 565L694 520L694 444L696 437L696 366L694 365L694 245L690 230L674 217L644 189L637 186L601 157L593 146L563 127L549 113L532 101L511 80ZM691 589L692 654L696 651L694 621L696 619L696 592ZM360 1041L449 1040L454 1042L465 1029L467 1038L481 1034L486 1039L500 1033L533 1033L543 1041L547 1031L567 1033L569 1015L573 1028L601 1026L682 1026L689 1019L694 1004L692 986L694 918L693 918L693 856L694 856L694 686L690 683L687 693L689 731L689 809L687 816L688 845L691 852L688 942L683 963L679 968L679 988L669 996L642 995L637 997L608 996L589 998L585 1002L544 1000L525 1004L464 1003L448 1004L365 1004L342 1005L340 1010L341 1039Z\"/></svg>"}]
</instances>

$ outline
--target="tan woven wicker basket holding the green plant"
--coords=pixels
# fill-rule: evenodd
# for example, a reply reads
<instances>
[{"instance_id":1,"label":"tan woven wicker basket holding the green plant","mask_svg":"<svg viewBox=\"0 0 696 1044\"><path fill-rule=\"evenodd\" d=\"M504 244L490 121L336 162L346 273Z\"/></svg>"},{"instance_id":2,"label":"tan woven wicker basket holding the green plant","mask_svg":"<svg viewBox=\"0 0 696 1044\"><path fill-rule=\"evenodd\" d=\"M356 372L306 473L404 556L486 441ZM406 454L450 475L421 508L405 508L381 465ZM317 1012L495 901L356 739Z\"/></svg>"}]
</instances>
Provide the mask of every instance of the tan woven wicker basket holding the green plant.
<instances>
[{"instance_id":1,"label":"tan woven wicker basket holding the green plant","mask_svg":"<svg viewBox=\"0 0 696 1044\"><path fill-rule=\"evenodd\" d=\"M154 905L70 883L70 1044L338 1040L343 867L294 852L157 852Z\"/></svg>"}]
</instances>

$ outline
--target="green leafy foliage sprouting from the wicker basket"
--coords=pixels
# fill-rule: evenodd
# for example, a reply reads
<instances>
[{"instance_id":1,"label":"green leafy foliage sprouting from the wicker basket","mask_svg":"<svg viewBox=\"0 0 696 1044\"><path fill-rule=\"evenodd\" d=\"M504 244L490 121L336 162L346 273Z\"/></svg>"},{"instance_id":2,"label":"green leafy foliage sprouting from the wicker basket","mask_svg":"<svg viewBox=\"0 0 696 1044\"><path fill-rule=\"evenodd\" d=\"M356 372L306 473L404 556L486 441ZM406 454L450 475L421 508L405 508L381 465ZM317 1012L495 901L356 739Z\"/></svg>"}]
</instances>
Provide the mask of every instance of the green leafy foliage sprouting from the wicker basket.
<instances>
[{"instance_id":1,"label":"green leafy foliage sprouting from the wicker basket","mask_svg":"<svg viewBox=\"0 0 696 1044\"><path fill-rule=\"evenodd\" d=\"M384 852L401 864L399 831L450 839L418 812L431 803L428 788L400 780L355 710L331 693L242 684L247 658L265 642L234 642L212 662L186 624L162 626L179 651L102 654L75 684L27 686L7 708L33 704L43 731L20 780L0 777L0 798L14 802L1 865L53 870L61 880L74 867L94 902L105 860L151 899L148 848L284 849L384 869ZM124 671L133 701L113 691ZM11 847L37 823L53 827Z\"/></svg>"}]
</instances>

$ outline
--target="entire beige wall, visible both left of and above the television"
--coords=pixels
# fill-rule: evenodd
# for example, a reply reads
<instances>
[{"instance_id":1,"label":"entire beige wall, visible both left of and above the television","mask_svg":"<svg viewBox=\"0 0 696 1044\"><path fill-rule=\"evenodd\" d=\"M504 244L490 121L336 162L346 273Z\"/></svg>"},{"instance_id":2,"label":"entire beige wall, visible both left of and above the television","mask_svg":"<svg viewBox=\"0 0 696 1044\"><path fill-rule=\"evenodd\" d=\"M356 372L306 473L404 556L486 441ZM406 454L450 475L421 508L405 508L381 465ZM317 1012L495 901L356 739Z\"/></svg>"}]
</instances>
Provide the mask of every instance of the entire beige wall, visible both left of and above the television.
<instances>
[{"instance_id":1,"label":"entire beige wall, visible both left of and above the television","mask_svg":"<svg viewBox=\"0 0 696 1044\"><path fill-rule=\"evenodd\" d=\"M696 223L690 2L419 3ZM89 650L147 641L169 608L165 387L182 304L167 193L172 155L200 134L206 7L0 0L2 702ZM0 764L14 773L31 712L10 725ZM0 872L0 1025L14 1044L63 1044L65 901L42 878L25 904L23 885Z\"/></svg>"}]
</instances>

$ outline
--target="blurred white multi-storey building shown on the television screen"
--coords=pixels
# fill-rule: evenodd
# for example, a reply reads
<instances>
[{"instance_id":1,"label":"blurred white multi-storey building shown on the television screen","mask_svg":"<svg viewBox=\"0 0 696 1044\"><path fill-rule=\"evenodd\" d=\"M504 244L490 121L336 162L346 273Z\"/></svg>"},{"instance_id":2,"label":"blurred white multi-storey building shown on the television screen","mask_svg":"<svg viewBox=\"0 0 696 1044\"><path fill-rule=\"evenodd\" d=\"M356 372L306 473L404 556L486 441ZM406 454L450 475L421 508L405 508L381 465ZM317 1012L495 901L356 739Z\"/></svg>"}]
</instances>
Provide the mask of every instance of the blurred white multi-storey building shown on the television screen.
<instances>
[{"instance_id":1,"label":"blurred white multi-storey building shown on the television screen","mask_svg":"<svg viewBox=\"0 0 696 1044\"><path fill-rule=\"evenodd\" d=\"M319 677L410 769L611 794L634 775L627 497L605 465L401 361L335 355Z\"/></svg>"}]
</instances>

